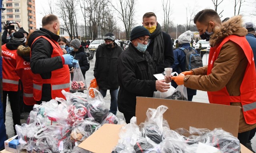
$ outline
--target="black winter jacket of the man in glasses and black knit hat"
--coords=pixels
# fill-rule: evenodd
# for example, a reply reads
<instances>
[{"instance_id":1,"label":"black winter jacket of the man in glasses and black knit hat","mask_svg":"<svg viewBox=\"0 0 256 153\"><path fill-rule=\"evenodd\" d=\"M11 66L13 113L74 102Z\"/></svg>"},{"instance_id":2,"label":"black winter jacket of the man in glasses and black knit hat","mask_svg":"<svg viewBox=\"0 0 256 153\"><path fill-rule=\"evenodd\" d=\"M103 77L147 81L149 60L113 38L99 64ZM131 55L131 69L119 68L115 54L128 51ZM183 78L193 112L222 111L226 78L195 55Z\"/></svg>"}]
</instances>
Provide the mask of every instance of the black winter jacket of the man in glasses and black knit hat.
<instances>
[{"instance_id":1,"label":"black winter jacket of the man in glasses and black knit hat","mask_svg":"<svg viewBox=\"0 0 256 153\"><path fill-rule=\"evenodd\" d=\"M156 90L156 64L147 51L142 53L130 43L118 58L117 71L118 110L135 113L136 96L152 97Z\"/></svg>"}]
</instances>

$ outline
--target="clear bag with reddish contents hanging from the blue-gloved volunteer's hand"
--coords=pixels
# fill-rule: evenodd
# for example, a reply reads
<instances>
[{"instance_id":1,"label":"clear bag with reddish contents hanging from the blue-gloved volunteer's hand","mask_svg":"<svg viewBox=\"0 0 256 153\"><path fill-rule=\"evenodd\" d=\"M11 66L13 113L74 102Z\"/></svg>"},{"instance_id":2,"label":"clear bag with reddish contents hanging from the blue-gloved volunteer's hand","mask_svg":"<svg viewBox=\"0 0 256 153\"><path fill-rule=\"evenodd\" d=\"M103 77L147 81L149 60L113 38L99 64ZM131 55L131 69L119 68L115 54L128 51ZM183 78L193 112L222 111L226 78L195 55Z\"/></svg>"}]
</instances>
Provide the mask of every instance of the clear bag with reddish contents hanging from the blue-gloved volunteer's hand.
<instances>
[{"instance_id":1,"label":"clear bag with reddish contents hanging from the blue-gloved volunteer's hand","mask_svg":"<svg viewBox=\"0 0 256 153\"><path fill-rule=\"evenodd\" d=\"M71 83L71 89L74 91L87 90L87 85L79 64L76 64L74 67L74 77Z\"/></svg>"}]
</instances>

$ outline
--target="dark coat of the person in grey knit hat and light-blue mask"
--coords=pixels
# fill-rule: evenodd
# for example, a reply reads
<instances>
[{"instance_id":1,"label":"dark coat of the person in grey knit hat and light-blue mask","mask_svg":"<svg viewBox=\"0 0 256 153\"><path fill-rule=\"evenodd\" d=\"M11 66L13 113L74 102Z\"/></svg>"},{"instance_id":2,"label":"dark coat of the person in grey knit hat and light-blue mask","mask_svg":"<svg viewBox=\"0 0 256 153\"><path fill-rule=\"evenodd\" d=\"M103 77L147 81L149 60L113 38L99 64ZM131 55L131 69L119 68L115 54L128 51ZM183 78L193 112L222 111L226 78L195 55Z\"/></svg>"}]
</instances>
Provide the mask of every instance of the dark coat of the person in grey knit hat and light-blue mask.
<instances>
[{"instance_id":1,"label":"dark coat of the person in grey knit hat and light-blue mask","mask_svg":"<svg viewBox=\"0 0 256 153\"><path fill-rule=\"evenodd\" d=\"M84 52L84 47L80 46L78 51L76 51L76 52L72 51L69 54L72 55L75 60L78 60L80 69L81 69L82 74L83 74L83 76L85 78L85 72L90 69L90 62L88 60L87 53ZM69 66L69 68L71 68L71 67L72 66Z\"/></svg>"}]
</instances>

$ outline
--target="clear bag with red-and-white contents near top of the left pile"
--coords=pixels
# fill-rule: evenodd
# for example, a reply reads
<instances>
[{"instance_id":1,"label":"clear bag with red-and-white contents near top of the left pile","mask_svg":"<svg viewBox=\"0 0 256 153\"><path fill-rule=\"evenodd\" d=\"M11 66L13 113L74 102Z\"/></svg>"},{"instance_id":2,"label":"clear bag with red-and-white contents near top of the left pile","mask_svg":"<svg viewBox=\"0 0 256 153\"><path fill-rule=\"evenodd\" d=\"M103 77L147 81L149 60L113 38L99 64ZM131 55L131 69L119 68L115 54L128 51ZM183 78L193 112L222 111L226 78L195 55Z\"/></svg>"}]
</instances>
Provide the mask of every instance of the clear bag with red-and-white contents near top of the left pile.
<instances>
[{"instance_id":1,"label":"clear bag with red-and-white contents near top of the left pile","mask_svg":"<svg viewBox=\"0 0 256 153\"><path fill-rule=\"evenodd\" d=\"M85 119L87 108L84 105L75 102L68 106L68 113L67 122L72 126L75 121Z\"/></svg>"}]
</instances>

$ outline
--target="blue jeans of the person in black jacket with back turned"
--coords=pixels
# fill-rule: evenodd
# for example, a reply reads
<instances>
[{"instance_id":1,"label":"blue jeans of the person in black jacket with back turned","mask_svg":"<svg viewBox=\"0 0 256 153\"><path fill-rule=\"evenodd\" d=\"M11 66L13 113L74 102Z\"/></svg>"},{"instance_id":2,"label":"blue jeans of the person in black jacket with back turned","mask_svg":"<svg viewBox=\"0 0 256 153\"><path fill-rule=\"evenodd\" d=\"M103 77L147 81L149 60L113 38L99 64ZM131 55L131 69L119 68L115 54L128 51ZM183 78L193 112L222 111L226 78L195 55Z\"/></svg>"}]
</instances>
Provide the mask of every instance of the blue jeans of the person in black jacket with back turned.
<instances>
[{"instance_id":1,"label":"blue jeans of the person in black jacket with back turned","mask_svg":"<svg viewBox=\"0 0 256 153\"><path fill-rule=\"evenodd\" d=\"M106 96L107 94L107 90L104 89L99 89L100 93L102 94L103 97ZM117 95L118 95L118 89L115 90L109 90L110 91L110 96L111 96L111 100L110 100L110 111L111 113L113 113L114 115L116 115L117 112Z\"/></svg>"}]
</instances>

